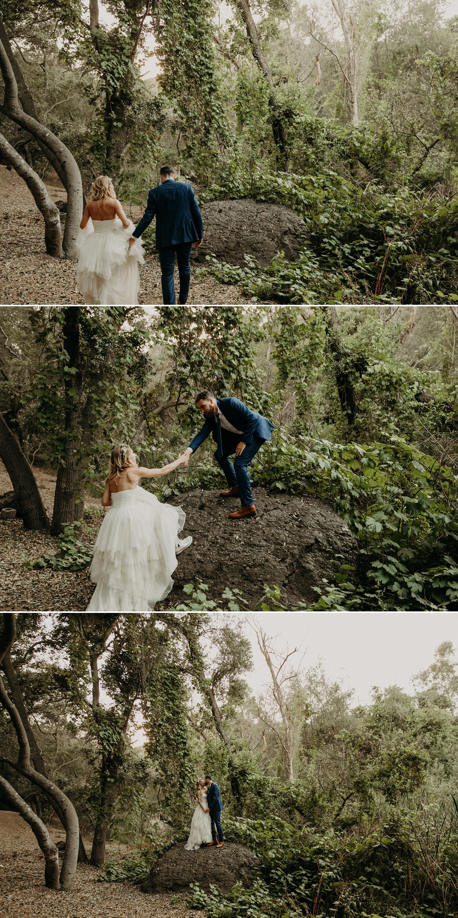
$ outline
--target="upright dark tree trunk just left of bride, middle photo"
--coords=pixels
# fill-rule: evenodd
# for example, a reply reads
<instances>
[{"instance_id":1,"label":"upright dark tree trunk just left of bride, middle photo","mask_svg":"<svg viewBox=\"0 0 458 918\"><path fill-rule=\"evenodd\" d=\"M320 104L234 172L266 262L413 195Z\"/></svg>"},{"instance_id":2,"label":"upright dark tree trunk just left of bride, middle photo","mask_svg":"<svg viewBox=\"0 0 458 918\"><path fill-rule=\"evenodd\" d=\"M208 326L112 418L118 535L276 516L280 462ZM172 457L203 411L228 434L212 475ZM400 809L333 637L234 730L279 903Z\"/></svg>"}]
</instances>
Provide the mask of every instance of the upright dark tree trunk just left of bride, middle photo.
<instances>
[{"instance_id":1,"label":"upright dark tree trunk just left of bride, middle photo","mask_svg":"<svg viewBox=\"0 0 458 918\"><path fill-rule=\"evenodd\" d=\"M75 442L80 431L76 430L78 420L81 420L81 395L83 376L81 371L80 353L80 325L79 308L66 307L65 319L62 327L64 347L69 355L69 368L76 369L76 373L65 374L65 448L63 455L64 465L59 466L52 510L51 535L59 535L65 523L74 522L81 518L84 512L80 498L79 481L81 466L76 462ZM77 395L69 394L71 389L76 389ZM78 503L76 499L78 498Z\"/></svg>"}]
</instances>

